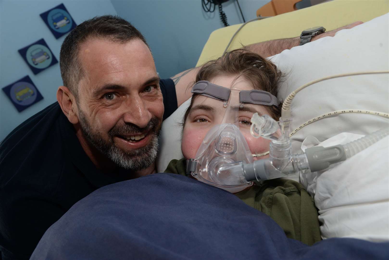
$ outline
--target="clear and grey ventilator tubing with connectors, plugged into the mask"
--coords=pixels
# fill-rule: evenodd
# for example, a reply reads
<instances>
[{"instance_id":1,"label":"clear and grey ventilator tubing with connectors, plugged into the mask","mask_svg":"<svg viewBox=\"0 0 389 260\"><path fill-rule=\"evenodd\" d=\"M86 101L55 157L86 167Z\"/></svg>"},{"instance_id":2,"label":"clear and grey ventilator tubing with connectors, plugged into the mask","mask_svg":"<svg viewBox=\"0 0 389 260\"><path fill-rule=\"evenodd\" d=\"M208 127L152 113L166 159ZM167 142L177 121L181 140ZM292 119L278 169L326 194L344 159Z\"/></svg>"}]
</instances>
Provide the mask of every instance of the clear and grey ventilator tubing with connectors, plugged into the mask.
<instances>
[{"instance_id":1,"label":"clear and grey ventilator tubing with connectors, plugged into the mask","mask_svg":"<svg viewBox=\"0 0 389 260\"><path fill-rule=\"evenodd\" d=\"M249 164L243 162L228 163L219 168L221 173L231 175L234 177L233 179L261 181L287 177L289 174L306 169L310 169L311 172L325 170L330 164L344 161L389 135L389 129L385 128L345 145L312 147L306 149L303 154L292 154L289 136L286 134L290 132L290 121L283 122L280 119L278 124L271 117L257 115L252 117L251 122L251 134L254 137L261 136L272 140L269 158Z\"/></svg>"}]
</instances>

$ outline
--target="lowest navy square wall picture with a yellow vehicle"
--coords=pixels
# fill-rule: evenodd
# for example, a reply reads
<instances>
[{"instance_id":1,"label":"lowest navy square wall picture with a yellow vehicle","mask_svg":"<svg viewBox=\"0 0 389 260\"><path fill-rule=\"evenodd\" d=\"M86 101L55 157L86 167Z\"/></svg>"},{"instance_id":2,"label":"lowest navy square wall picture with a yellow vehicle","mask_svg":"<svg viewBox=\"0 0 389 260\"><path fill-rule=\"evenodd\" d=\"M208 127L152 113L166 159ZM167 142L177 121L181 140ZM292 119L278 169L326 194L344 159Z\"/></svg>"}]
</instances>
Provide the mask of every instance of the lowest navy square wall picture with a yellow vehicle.
<instances>
[{"instance_id":1,"label":"lowest navy square wall picture with a yellow vehicle","mask_svg":"<svg viewBox=\"0 0 389 260\"><path fill-rule=\"evenodd\" d=\"M19 112L43 99L38 88L35 87L29 76L25 76L4 87L3 91Z\"/></svg>"}]
</instances>

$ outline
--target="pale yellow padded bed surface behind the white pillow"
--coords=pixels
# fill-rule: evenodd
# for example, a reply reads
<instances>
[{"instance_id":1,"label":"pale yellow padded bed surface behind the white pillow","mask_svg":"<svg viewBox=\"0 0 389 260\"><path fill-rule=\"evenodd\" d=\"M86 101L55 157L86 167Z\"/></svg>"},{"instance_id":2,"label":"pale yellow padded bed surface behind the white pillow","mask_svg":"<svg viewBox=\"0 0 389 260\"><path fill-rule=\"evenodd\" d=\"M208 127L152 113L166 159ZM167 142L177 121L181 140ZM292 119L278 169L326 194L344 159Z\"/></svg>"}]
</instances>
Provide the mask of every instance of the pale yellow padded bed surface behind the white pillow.
<instances>
[{"instance_id":1,"label":"pale yellow padded bed surface behind the white pillow","mask_svg":"<svg viewBox=\"0 0 389 260\"><path fill-rule=\"evenodd\" d=\"M254 11L253 11L254 12ZM323 26L334 30L354 21L369 21L389 12L387 0L335 0L312 7L287 12L271 18L253 21L245 25L231 42L229 50L273 39L300 36L309 27ZM231 25L213 31L196 64L200 66L223 54L232 35L242 24Z\"/></svg>"}]
</instances>

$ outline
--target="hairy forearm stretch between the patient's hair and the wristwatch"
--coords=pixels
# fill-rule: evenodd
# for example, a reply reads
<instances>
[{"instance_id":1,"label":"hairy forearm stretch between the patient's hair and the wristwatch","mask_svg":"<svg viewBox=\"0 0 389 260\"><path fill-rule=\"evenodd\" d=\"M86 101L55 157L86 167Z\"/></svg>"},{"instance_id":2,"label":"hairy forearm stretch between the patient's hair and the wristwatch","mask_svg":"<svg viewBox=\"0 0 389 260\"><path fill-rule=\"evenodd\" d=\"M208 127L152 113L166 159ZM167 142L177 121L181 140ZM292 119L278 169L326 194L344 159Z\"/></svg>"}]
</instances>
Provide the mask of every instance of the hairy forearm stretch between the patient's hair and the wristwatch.
<instances>
[{"instance_id":1,"label":"hairy forearm stretch between the patient's hair and the wristwatch","mask_svg":"<svg viewBox=\"0 0 389 260\"><path fill-rule=\"evenodd\" d=\"M289 50L294 46L300 44L300 38L289 38L289 39L277 39L266 42L258 42L244 47L245 50L249 50L254 53L258 53L262 57L270 57L276 55L283 50Z\"/></svg>"}]
</instances>

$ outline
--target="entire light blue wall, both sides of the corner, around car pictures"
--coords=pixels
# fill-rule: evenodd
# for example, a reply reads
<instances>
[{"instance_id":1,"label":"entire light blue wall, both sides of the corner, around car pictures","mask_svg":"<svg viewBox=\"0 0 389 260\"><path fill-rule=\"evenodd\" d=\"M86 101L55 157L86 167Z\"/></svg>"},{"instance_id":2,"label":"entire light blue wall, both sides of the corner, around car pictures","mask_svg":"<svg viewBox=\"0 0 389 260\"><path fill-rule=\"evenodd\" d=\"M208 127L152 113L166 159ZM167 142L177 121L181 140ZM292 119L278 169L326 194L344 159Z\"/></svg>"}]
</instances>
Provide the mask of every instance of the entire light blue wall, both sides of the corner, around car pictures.
<instances>
[{"instance_id":1,"label":"entire light blue wall, both sides of the corner, around car pictures","mask_svg":"<svg viewBox=\"0 0 389 260\"><path fill-rule=\"evenodd\" d=\"M270 0L240 0L246 21ZM0 0L0 88L29 75L44 99L19 113L0 90L0 141L21 122L56 101L62 85L59 64L34 75L18 53L44 38L59 60L65 35L55 39L39 14L65 4L77 24L103 14L118 14L137 27L149 42L162 78L194 67L210 33L223 27L219 11L205 13L200 0ZM223 3L230 25L242 23L237 3Z\"/></svg>"}]
</instances>

